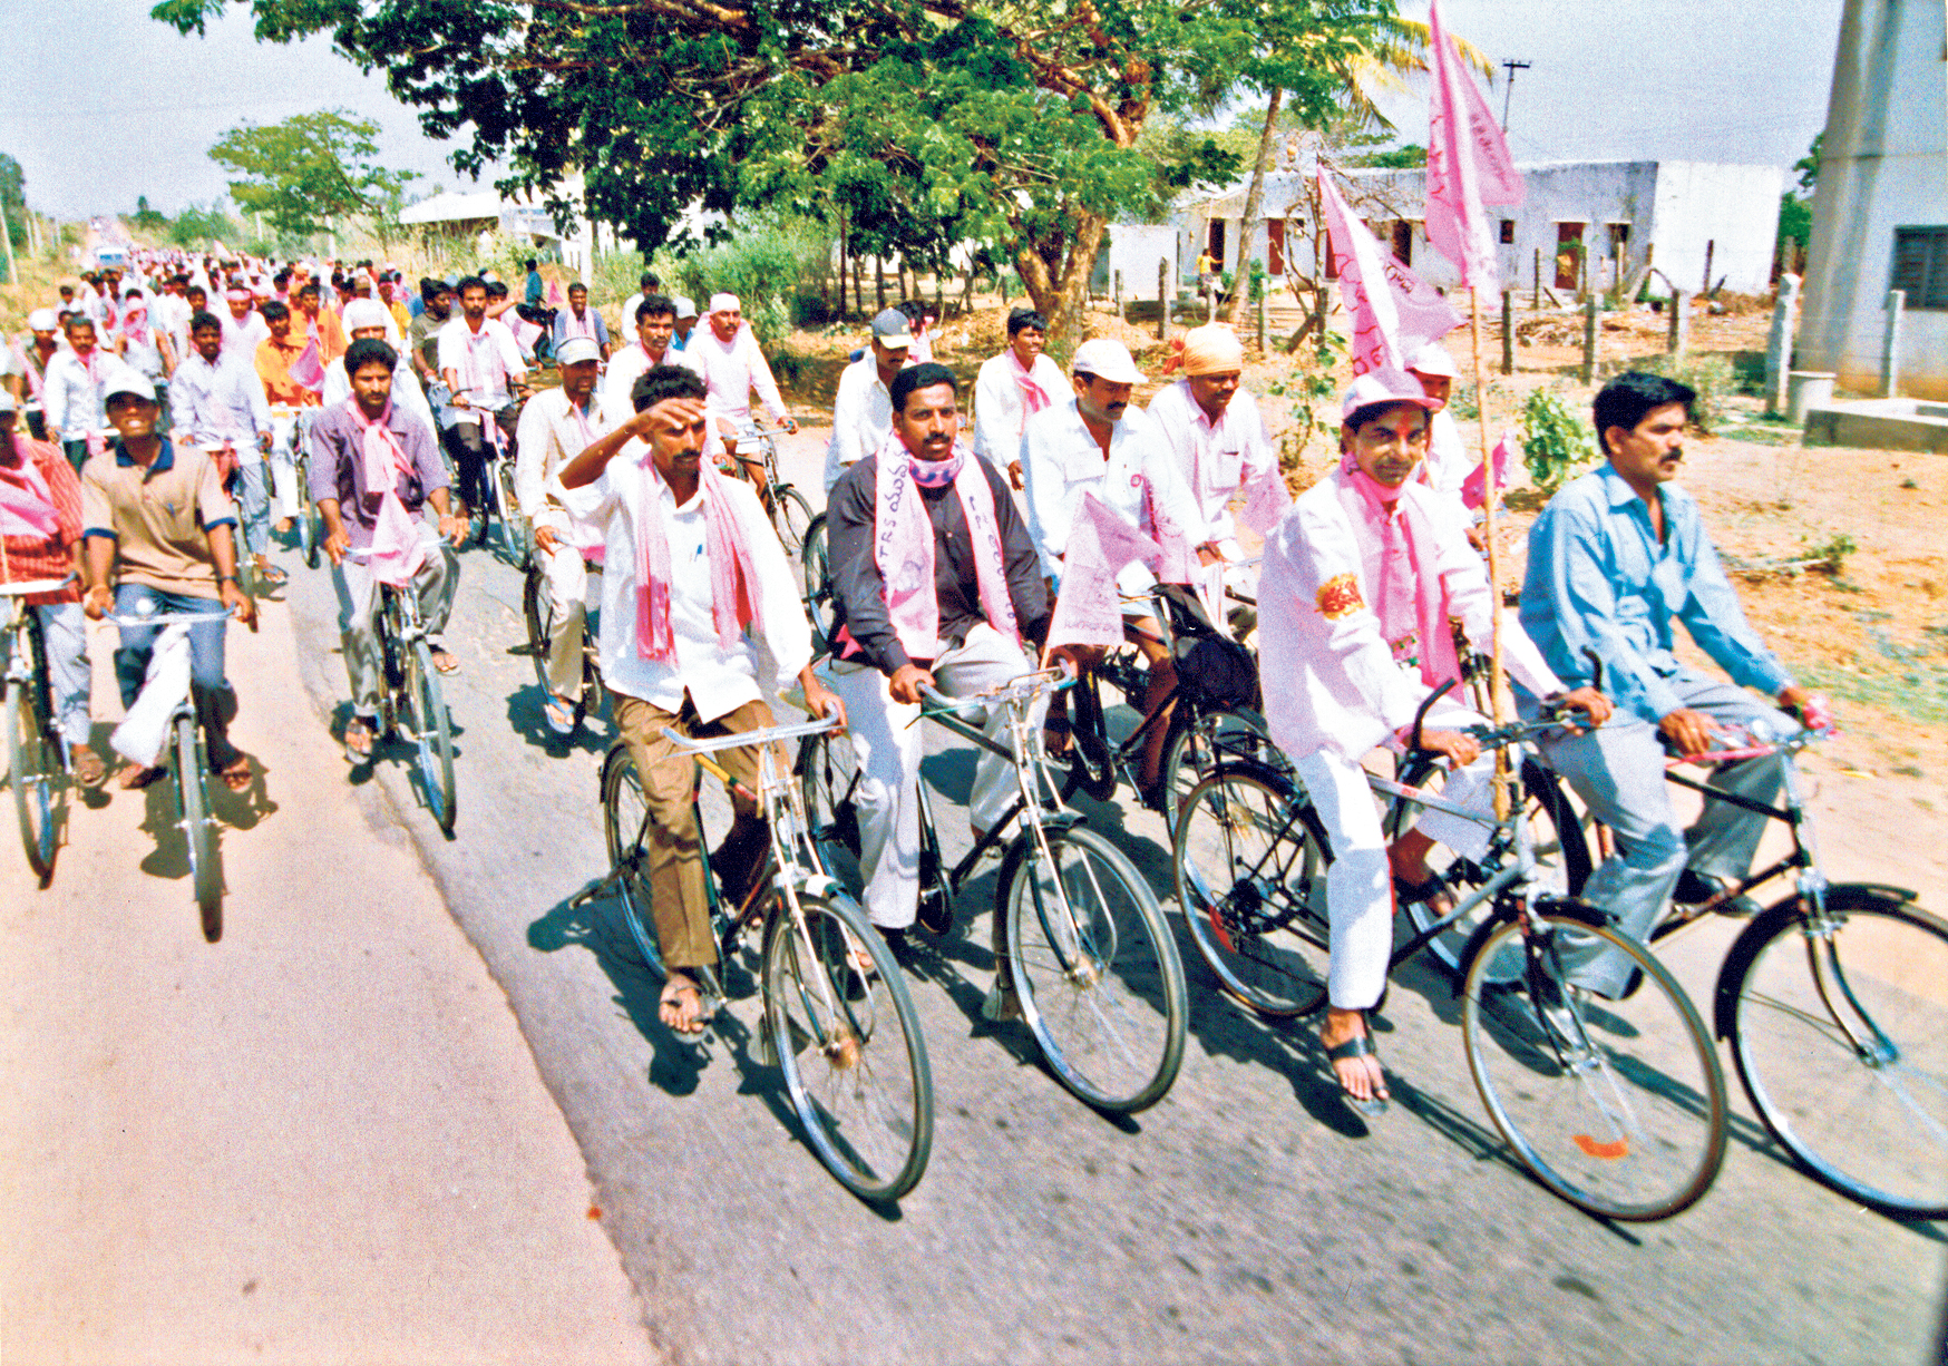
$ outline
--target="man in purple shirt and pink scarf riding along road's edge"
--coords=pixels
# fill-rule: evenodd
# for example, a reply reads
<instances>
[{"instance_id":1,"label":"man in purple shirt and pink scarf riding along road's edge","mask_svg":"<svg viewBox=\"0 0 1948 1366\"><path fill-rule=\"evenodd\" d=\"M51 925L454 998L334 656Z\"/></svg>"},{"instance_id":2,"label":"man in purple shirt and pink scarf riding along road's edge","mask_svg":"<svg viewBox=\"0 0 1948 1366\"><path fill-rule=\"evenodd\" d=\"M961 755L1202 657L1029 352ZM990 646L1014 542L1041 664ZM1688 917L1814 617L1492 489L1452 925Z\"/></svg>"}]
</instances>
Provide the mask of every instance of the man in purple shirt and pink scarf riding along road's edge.
<instances>
[{"instance_id":1,"label":"man in purple shirt and pink scarf riding along road's edge","mask_svg":"<svg viewBox=\"0 0 1948 1366\"><path fill-rule=\"evenodd\" d=\"M421 421L392 401L399 353L376 337L345 351L353 396L312 423L312 501L325 522L331 585L339 594L339 635L351 676L353 717L345 723L345 758L364 764L378 735L380 651L372 629L380 583L411 583L427 622L432 666L442 674L460 661L440 641L460 587L452 546L466 538L446 491L446 466ZM432 505L438 534L421 518ZM370 559L347 559L347 550Z\"/></svg>"}]
</instances>

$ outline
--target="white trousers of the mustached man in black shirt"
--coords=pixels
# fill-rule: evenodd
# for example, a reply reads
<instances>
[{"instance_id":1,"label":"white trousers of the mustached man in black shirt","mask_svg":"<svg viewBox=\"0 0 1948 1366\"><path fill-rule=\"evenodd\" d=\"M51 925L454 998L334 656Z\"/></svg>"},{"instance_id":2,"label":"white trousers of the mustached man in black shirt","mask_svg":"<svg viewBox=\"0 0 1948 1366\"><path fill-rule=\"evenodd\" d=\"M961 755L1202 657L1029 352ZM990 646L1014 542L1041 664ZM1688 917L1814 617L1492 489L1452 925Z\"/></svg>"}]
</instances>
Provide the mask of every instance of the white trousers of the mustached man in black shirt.
<instances>
[{"instance_id":1,"label":"white trousers of the mustached man in black shirt","mask_svg":"<svg viewBox=\"0 0 1948 1366\"><path fill-rule=\"evenodd\" d=\"M958 649L933 661L933 678L949 698L1019 678L1032 664L1021 647L982 622ZM904 930L919 910L919 703L894 702L890 680L873 664L832 661L826 670L832 690L845 703L847 735L859 758L859 873L865 879L865 908L875 926ZM1032 723L1042 723L1048 700L1036 703ZM982 725L982 733L1007 744L1007 707L962 713ZM980 752L974 760L974 791L968 820L990 830L1007 815L1019 795L1015 768L999 754Z\"/></svg>"}]
</instances>

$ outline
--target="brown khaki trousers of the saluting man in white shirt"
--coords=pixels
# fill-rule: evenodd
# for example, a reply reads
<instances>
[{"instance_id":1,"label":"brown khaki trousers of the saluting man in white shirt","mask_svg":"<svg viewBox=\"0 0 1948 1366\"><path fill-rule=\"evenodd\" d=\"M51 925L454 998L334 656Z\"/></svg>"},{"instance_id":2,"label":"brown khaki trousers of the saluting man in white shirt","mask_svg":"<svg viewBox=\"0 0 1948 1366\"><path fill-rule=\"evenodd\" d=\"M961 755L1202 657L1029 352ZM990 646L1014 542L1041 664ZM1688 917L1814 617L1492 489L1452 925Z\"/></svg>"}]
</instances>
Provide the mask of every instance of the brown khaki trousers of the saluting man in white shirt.
<instances>
[{"instance_id":1,"label":"brown khaki trousers of the saluting man in white shirt","mask_svg":"<svg viewBox=\"0 0 1948 1366\"><path fill-rule=\"evenodd\" d=\"M736 735L771 725L771 709L762 702L746 702L715 721L697 721L697 709L684 698L682 711L664 711L641 698L614 700L616 729L629 746L643 801L649 805L649 912L656 924L656 945L666 968L695 968L717 963L717 935L711 931L709 891L703 887L703 838L692 805L697 785L697 764L678 750L662 733L664 727L707 739ZM779 760L773 750L773 762ZM717 750L721 764L744 787L758 789L758 748ZM717 850L715 863L730 889L740 889L752 865L762 863L769 842L764 815L736 793L730 795L736 813L730 834Z\"/></svg>"}]
</instances>

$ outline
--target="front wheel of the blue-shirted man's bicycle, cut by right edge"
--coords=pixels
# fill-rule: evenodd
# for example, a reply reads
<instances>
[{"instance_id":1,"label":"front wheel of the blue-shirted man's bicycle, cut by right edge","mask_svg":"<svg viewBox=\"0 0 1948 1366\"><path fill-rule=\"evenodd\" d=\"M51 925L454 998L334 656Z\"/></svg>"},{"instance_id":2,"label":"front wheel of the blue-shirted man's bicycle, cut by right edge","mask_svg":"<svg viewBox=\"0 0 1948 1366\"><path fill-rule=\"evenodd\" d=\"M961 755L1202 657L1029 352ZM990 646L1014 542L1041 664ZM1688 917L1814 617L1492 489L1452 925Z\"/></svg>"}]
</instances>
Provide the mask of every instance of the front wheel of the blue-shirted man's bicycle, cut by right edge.
<instances>
[{"instance_id":1,"label":"front wheel of the blue-shirted man's bicycle, cut by right edge","mask_svg":"<svg viewBox=\"0 0 1948 1366\"><path fill-rule=\"evenodd\" d=\"M1726 957L1738 1076L1817 1181L1948 1218L1948 922L1870 887L1825 902L1782 902Z\"/></svg>"}]
</instances>

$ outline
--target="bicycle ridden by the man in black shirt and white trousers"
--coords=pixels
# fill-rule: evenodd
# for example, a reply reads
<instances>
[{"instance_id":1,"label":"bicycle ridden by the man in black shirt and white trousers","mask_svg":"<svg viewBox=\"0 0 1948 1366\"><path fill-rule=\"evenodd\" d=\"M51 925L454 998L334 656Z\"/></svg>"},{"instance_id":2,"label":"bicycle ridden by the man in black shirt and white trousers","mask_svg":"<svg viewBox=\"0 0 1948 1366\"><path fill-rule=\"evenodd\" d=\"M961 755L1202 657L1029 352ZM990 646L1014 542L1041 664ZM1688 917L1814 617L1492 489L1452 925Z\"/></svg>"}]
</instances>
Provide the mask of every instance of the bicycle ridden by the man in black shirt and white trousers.
<instances>
[{"instance_id":1,"label":"bicycle ridden by the man in black shirt and white trousers","mask_svg":"<svg viewBox=\"0 0 1948 1366\"><path fill-rule=\"evenodd\" d=\"M995 976L1013 984L1023 1021L1056 1080L1087 1105L1134 1115L1177 1081L1184 1056L1184 968L1149 883L1081 816L1044 803L1054 791L1032 705L1068 686L1062 670L1023 674L970 698L925 690L921 717L1015 768L1019 795L953 869L945 869L925 781L921 801L921 906L927 928L953 926L953 896L974 865L1001 846L995 883ZM960 717L968 707L1007 707L1009 744L995 744ZM838 735L799 750L799 781L820 867L840 850L859 854L859 766Z\"/></svg>"}]
</instances>

